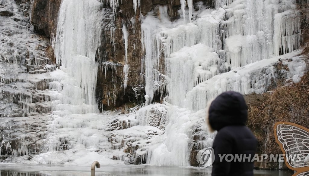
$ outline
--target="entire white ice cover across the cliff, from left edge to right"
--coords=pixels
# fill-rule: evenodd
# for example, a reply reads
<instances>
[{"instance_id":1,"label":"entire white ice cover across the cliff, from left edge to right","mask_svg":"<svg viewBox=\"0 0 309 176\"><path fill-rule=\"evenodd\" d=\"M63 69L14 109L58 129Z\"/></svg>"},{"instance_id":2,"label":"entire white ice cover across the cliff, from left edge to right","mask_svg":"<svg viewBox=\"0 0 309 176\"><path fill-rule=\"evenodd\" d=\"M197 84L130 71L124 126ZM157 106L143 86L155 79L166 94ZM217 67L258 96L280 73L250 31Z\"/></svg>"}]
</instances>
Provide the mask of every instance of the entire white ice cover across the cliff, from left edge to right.
<instances>
[{"instance_id":1,"label":"entire white ice cover across the cliff, from left edge to right","mask_svg":"<svg viewBox=\"0 0 309 176\"><path fill-rule=\"evenodd\" d=\"M0 16L0 155L20 157L4 162L188 166L194 147L212 145L204 122L208 100L228 90L262 93L277 77L298 82L305 67L300 51L294 51L300 45L295 0L215 0L215 9L181 0L180 19L171 22L167 6L158 7L159 16L139 18L146 106L128 114L99 114L97 70L100 66L107 76L121 64L99 65L95 57L102 31L114 41L110 14L121 1L62 1L54 43L60 69L49 65L47 42L32 33L20 7L6 2L0 10L10 9L14 16ZM141 0L133 0L133 6L137 12ZM131 47L126 23L122 34L126 87ZM277 70L277 62L289 69ZM168 96L152 104L160 87Z\"/></svg>"}]
</instances>

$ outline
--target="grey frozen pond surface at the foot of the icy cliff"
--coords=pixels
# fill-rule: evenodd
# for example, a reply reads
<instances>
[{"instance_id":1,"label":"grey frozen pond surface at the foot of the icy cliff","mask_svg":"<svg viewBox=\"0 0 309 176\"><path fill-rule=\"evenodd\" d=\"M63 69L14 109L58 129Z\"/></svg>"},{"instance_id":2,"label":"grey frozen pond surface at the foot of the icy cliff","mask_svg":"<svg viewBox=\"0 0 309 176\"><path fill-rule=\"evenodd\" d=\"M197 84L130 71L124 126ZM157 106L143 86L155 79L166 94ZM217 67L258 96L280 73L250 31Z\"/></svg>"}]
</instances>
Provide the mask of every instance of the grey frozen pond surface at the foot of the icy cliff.
<instances>
[{"instance_id":1,"label":"grey frozen pond surface at the foot of the icy cliff","mask_svg":"<svg viewBox=\"0 0 309 176\"><path fill-rule=\"evenodd\" d=\"M210 176L211 169L197 167L105 165L96 168L97 176ZM255 170L255 176L291 176L289 171ZM0 163L1 176L89 176L89 166L21 165Z\"/></svg>"}]
</instances>

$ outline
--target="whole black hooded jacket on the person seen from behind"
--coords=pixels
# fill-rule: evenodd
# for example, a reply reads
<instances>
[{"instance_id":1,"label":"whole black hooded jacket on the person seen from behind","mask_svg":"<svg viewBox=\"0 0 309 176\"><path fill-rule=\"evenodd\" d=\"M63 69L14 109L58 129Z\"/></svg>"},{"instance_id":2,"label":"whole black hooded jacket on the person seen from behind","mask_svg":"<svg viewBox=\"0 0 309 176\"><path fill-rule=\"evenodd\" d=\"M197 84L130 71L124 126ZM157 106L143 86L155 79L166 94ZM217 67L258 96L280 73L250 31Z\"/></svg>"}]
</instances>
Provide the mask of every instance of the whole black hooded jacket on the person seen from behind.
<instances>
[{"instance_id":1,"label":"whole black hooded jacket on the person seen from behind","mask_svg":"<svg viewBox=\"0 0 309 176\"><path fill-rule=\"evenodd\" d=\"M257 149L256 137L246 126L248 119L248 108L243 96L237 92L224 92L219 95L209 108L209 125L218 133L214 139L214 163L212 176L253 176L252 160ZM220 156L232 154L231 162ZM239 162L235 156L244 156L245 161ZM250 154L250 159L248 156ZM231 160L231 157L227 159Z\"/></svg>"}]
</instances>

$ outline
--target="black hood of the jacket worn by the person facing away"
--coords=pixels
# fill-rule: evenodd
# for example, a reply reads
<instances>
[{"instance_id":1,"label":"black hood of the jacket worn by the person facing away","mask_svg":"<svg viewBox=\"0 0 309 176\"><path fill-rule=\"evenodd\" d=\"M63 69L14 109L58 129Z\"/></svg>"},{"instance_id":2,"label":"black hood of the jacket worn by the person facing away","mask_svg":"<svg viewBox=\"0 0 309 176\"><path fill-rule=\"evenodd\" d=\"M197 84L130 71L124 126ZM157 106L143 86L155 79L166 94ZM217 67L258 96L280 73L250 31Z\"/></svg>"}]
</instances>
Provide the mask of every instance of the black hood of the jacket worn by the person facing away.
<instances>
[{"instance_id":1,"label":"black hood of the jacket worn by the person facing away","mask_svg":"<svg viewBox=\"0 0 309 176\"><path fill-rule=\"evenodd\" d=\"M208 110L208 122L212 129L219 131L225 126L246 125L248 107L238 92L224 92L215 98Z\"/></svg>"}]
</instances>

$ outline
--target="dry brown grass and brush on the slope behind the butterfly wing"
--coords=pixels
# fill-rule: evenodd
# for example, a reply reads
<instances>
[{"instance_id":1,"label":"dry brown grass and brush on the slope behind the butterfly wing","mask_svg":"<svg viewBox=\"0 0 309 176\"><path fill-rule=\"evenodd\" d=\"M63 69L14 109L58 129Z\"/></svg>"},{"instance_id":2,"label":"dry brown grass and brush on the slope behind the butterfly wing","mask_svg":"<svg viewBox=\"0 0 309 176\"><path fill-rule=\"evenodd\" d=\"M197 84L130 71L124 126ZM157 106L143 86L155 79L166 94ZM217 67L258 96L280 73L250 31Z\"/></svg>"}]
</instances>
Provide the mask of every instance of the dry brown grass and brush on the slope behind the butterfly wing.
<instances>
[{"instance_id":1,"label":"dry brown grass and brush on the slope behind the butterfly wing","mask_svg":"<svg viewBox=\"0 0 309 176\"><path fill-rule=\"evenodd\" d=\"M309 73L301 82L274 89L268 99L259 106L249 106L248 127L259 141L258 153L281 153L277 145L273 125L287 121L309 128Z\"/></svg>"}]
</instances>

